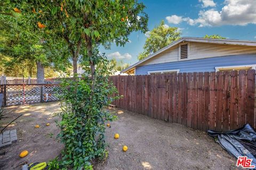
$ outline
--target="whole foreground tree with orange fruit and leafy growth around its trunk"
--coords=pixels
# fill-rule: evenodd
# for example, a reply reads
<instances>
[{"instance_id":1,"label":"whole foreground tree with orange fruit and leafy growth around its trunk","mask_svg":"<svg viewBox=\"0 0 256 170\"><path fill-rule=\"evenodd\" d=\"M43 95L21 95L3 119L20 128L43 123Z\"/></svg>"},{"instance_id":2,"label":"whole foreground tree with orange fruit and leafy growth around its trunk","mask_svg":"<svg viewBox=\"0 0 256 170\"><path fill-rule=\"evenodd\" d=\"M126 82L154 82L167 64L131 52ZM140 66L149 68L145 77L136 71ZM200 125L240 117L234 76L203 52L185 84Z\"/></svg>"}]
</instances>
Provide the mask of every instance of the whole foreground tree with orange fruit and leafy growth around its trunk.
<instances>
[{"instance_id":1,"label":"whole foreground tree with orange fruit and leafy growth around its trunk","mask_svg":"<svg viewBox=\"0 0 256 170\"><path fill-rule=\"evenodd\" d=\"M109 82L113 67L99 46L124 46L133 31L147 31L145 5L136 0L35 0L12 1L10 8L25 13L40 28L49 45L67 47L77 73L77 60L85 73L62 81L61 132L65 145L61 159L51 169L91 169L91 160L107 156L105 122L114 120L106 111L117 93ZM59 47L58 47L59 48ZM68 75L68 74L66 74Z\"/></svg>"}]
</instances>

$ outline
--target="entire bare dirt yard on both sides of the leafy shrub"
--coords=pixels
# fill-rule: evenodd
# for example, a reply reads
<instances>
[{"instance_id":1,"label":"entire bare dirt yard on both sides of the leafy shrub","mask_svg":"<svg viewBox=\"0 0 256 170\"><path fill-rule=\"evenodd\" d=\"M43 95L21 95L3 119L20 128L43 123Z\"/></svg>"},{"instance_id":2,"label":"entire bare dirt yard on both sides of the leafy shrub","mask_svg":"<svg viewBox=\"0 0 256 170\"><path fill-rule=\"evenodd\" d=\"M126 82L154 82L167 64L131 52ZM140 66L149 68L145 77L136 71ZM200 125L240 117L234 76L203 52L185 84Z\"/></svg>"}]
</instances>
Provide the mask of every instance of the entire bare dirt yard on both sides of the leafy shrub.
<instances>
[{"instance_id":1,"label":"entire bare dirt yard on both sides of the leafy shrub","mask_svg":"<svg viewBox=\"0 0 256 170\"><path fill-rule=\"evenodd\" d=\"M20 169L23 162L47 162L60 154L62 145L55 139L58 103L9 107L11 115L23 114L8 130L17 129L18 142L0 156L0 169ZM223 150L205 132L183 125L166 123L150 117L111 108L118 120L106 129L108 159L94 168L102 169L236 169L236 159ZM10 122L4 120L1 126ZM50 126L45 126L50 123ZM35 129L35 124L41 128ZM119 133L120 138L114 139ZM122 151L123 145L128 147ZM20 158L22 150L29 155Z\"/></svg>"}]
</instances>

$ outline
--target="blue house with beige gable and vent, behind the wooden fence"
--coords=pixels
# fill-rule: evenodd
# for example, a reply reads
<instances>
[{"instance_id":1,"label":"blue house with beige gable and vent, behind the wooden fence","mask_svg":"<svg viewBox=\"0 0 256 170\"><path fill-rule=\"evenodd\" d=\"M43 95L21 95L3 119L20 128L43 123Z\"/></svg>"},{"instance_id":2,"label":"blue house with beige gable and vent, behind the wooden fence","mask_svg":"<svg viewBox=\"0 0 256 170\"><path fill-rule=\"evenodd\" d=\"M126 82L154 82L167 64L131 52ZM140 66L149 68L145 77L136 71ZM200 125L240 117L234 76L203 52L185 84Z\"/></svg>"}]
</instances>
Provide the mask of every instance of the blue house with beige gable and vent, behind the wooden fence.
<instances>
[{"instance_id":1,"label":"blue house with beige gable and vent, behind the wooden fence","mask_svg":"<svg viewBox=\"0 0 256 170\"><path fill-rule=\"evenodd\" d=\"M256 41L183 37L121 73L212 72L255 69Z\"/></svg>"}]
</instances>

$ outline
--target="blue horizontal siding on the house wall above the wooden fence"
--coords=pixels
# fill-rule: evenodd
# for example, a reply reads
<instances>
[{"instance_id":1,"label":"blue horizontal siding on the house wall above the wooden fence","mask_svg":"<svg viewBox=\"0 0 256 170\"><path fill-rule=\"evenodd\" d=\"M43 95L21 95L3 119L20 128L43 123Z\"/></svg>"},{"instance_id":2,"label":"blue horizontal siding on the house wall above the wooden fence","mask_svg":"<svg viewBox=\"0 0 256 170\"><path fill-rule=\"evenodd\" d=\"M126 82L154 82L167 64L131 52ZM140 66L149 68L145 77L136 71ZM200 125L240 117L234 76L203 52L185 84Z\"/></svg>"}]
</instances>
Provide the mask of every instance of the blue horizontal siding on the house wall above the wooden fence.
<instances>
[{"instance_id":1,"label":"blue horizontal siding on the house wall above the wooden fence","mask_svg":"<svg viewBox=\"0 0 256 170\"><path fill-rule=\"evenodd\" d=\"M215 67L233 66L233 65L250 65L256 64L256 54L230 55L221 57L202 58L197 60L188 60L180 62L160 63L137 66L135 74L148 74L148 71L157 70L175 70L180 72L211 72Z\"/></svg>"}]
</instances>

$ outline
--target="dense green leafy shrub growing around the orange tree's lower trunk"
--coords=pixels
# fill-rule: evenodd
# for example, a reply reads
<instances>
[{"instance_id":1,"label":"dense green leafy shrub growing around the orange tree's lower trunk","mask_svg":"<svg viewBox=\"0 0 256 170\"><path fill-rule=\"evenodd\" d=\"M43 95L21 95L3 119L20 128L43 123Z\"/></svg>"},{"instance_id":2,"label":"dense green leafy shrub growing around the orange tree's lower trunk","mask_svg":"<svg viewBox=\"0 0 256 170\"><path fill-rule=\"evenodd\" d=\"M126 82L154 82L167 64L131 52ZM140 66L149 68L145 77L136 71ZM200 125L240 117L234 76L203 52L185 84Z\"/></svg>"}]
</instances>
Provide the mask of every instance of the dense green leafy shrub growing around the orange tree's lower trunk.
<instances>
[{"instance_id":1,"label":"dense green leafy shrub growing around the orange tree's lower trunk","mask_svg":"<svg viewBox=\"0 0 256 170\"><path fill-rule=\"evenodd\" d=\"M86 71L82 79L65 79L61 83L62 120L58 123L61 129L58 138L64 143L65 149L58 163L60 169L92 169L92 159L107 156L105 122L115 120L116 116L107 111L105 106L118 98L110 97L114 92L117 93L107 76L111 67L107 60L98 63L93 90L92 79L87 76L89 70L86 67L84 69Z\"/></svg>"}]
</instances>

